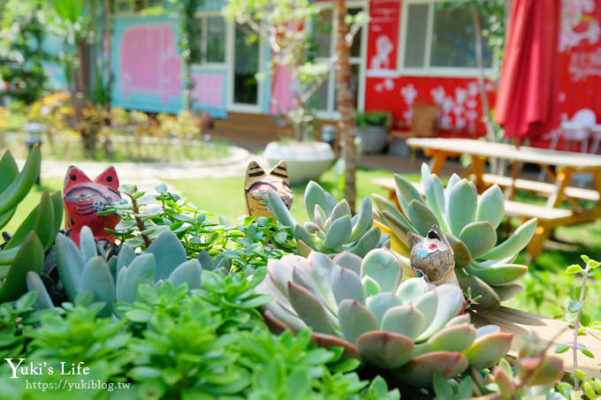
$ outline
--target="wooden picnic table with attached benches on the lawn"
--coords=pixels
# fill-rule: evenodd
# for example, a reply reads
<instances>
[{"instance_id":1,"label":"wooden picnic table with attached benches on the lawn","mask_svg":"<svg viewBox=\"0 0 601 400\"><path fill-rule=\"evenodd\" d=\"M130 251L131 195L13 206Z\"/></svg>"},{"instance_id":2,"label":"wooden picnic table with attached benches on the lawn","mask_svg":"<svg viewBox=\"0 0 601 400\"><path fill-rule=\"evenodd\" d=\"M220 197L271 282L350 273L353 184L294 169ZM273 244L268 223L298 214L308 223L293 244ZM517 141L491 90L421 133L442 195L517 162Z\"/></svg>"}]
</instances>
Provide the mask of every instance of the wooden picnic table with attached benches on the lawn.
<instances>
[{"instance_id":1,"label":"wooden picnic table with attached benches on the lawn","mask_svg":"<svg viewBox=\"0 0 601 400\"><path fill-rule=\"evenodd\" d=\"M533 258L542 253L544 241L549 238L555 227L590 223L601 217L601 156L468 139L411 138L407 140L407 145L421 148L425 155L431 157L430 170L433 173L438 174L442 170L447 158L468 155L471 165L463 176L474 179L479 192L494 184L506 186L506 215L538 219L535 237L528 247ZM502 177L485 173L484 165L489 158L513 162L512 176ZM519 169L516 166L521 162L540 165L552 179L552 183L519 178ZM552 167L555 167L555 171ZM592 175L594 190L569 186L572 177L577 173ZM391 199L396 199L392 178L386 182L380 179L377 184L389 190ZM546 198L546 205L514 201L516 188L543 196ZM568 201L569 208L560 208L564 200ZM594 207L582 208L578 200L593 201Z\"/></svg>"}]
</instances>

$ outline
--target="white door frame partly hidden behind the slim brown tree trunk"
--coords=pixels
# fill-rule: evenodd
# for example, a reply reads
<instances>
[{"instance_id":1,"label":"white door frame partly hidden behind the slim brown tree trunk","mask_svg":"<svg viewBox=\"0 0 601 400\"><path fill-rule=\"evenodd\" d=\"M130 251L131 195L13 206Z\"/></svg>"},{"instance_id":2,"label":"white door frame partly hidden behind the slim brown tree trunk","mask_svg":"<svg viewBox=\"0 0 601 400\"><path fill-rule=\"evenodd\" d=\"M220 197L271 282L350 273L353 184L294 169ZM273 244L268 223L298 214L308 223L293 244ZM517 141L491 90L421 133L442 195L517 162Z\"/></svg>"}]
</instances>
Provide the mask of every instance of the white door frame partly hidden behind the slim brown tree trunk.
<instances>
[{"instance_id":1,"label":"white door frame partly hidden behind the slim brown tree trunk","mask_svg":"<svg viewBox=\"0 0 601 400\"><path fill-rule=\"evenodd\" d=\"M331 33L330 33L330 57L336 54L336 31L338 29L338 13L336 12L333 4L319 3L317 4L319 11L331 10ZM363 12L369 12L368 1L348 1L346 2L346 8L361 8ZM359 65L359 76L358 88L357 88L357 110L362 111L365 109L365 70L368 49L368 34L369 24L361 27L361 44L359 57L351 57L351 65ZM316 57L316 62L327 63L330 60L329 57ZM328 72L328 78L323 81L322 85L327 85L327 102L326 109L317 109L316 116L321 119L339 119L340 113L336 110L336 104L334 104L334 94L336 92L336 65Z\"/></svg>"}]
</instances>

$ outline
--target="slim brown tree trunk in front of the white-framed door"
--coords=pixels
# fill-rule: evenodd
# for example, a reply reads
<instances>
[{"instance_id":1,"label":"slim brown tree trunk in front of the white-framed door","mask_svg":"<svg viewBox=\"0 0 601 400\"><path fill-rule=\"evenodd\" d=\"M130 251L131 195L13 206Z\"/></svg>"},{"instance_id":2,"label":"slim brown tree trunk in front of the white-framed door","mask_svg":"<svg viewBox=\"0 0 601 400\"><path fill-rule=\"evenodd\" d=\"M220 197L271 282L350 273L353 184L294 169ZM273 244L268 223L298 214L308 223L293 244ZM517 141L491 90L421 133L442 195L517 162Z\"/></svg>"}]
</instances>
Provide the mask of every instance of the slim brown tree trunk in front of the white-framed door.
<instances>
[{"instance_id":1,"label":"slim brown tree trunk in front of the white-framed door","mask_svg":"<svg viewBox=\"0 0 601 400\"><path fill-rule=\"evenodd\" d=\"M350 44L346 42L349 26L346 23L346 2L336 0L338 27L336 31L336 52L338 65L336 67L336 89L338 91L338 107L340 113L339 131L342 141L342 157L345 161L345 196L352 211L356 196L355 170L357 153L354 147L356 130L354 126L354 93L351 89L351 59Z\"/></svg>"}]
</instances>

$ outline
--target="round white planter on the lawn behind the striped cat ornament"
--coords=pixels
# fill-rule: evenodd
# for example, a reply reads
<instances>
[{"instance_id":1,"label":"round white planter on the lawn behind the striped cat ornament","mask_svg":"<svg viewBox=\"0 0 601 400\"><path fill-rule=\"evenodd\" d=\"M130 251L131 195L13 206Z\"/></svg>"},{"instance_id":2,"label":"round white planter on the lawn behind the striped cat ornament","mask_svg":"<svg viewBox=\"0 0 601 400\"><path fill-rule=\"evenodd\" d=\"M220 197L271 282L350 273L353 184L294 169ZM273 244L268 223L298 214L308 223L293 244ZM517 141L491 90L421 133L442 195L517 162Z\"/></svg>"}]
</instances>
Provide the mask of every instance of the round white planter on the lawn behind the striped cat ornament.
<instances>
[{"instance_id":1,"label":"round white planter on the lawn behind the striped cat ornament","mask_svg":"<svg viewBox=\"0 0 601 400\"><path fill-rule=\"evenodd\" d=\"M284 160L292 185L308 179L318 179L330 168L335 155L331 146L322 141L272 141L263 153L271 165Z\"/></svg>"}]
</instances>

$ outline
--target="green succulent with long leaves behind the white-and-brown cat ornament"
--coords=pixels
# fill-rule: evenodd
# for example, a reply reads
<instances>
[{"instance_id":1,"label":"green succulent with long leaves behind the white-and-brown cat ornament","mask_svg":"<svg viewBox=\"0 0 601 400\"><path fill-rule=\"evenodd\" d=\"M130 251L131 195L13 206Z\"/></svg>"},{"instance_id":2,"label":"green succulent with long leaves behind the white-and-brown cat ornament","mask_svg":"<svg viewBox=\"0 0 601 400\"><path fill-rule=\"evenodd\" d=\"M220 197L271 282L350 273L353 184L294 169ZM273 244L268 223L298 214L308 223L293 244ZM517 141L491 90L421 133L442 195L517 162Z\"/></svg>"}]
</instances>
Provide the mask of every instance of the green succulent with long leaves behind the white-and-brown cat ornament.
<instances>
[{"instance_id":1,"label":"green succulent with long leaves behind the white-and-brown cat ornament","mask_svg":"<svg viewBox=\"0 0 601 400\"><path fill-rule=\"evenodd\" d=\"M455 274L460 286L479 296L486 308L496 308L523 289L515 283L528 267L514 260L536 231L536 218L523 223L514 234L497 243L497 228L505 214L505 200L498 185L478 196L473 182L456 174L446 189L427 164L422 164L425 200L415 186L399 175L394 176L400 210L377 194L377 222L392 231L395 251L409 255L409 232L426 236L432 225L439 226L453 247Z\"/></svg>"}]
</instances>

